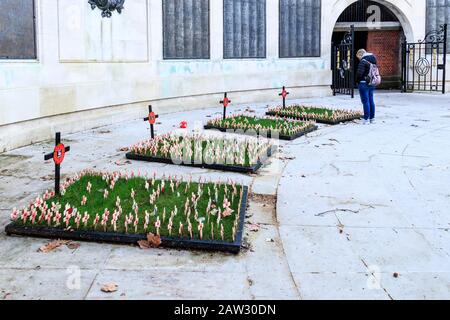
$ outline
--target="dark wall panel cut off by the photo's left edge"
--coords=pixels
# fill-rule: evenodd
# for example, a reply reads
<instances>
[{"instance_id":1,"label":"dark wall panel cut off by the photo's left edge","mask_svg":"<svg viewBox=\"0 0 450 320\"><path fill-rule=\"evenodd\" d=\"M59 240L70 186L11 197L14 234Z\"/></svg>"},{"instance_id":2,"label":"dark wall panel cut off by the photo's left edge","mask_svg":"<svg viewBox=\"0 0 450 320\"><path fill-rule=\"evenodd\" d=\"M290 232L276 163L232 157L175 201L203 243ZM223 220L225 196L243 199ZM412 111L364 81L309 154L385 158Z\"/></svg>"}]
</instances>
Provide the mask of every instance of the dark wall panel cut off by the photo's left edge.
<instances>
[{"instance_id":1,"label":"dark wall panel cut off by the photo's left edge","mask_svg":"<svg viewBox=\"0 0 450 320\"><path fill-rule=\"evenodd\" d=\"M0 59L36 59L34 0L0 1Z\"/></svg>"}]
</instances>

